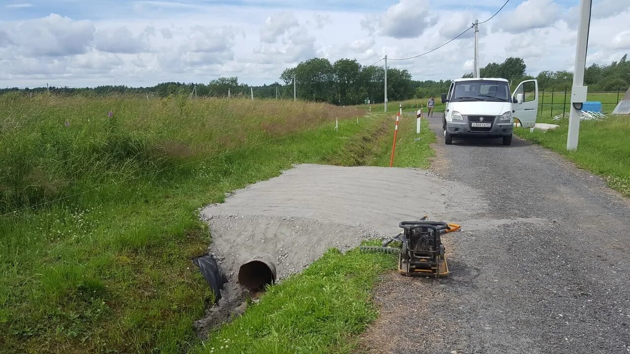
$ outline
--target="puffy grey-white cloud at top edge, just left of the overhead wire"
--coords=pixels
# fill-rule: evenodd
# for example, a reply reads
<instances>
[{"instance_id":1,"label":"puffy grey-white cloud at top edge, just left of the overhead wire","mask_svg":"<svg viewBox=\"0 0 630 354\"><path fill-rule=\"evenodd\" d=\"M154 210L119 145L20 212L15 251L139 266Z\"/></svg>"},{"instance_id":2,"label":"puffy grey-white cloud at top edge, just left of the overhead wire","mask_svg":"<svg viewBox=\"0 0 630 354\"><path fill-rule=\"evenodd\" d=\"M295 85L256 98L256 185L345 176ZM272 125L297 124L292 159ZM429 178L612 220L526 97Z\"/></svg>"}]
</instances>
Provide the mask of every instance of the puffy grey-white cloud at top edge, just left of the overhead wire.
<instances>
[{"instance_id":1,"label":"puffy grey-white cloud at top edge, just left of the overhead wire","mask_svg":"<svg viewBox=\"0 0 630 354\"><path fill-rule=\"evenodd\" d=\"M383 33L394 38L418 37L432 25L428 0L400 0L381 18Z\"/></svg>"}]
</instances>

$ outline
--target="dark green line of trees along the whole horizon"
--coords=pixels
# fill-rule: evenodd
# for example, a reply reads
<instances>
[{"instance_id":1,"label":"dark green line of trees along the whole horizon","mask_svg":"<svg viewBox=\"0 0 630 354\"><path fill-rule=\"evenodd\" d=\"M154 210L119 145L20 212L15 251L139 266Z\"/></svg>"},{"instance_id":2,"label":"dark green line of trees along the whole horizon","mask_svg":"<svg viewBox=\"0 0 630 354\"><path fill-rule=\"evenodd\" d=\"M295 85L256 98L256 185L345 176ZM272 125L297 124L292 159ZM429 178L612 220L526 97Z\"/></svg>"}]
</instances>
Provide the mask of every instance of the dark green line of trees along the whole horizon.
<instances>
[{"instance_id":1,"label":"dark green line of trees along the whole horizon","mask_svg":"<svg viewBox=\"0 0 630 354\"><path fill-rule=\"evenodd\" d=\"M479 69L481 77L502 77L515 86L524 79L536 78L541 89L571 88L573 73L569 71L542 71L536 77L527 74L525 60L509 57L501 63L491 62ZM362 103L382 103L384 100L384 75L382 66L363 66L355 59L340 59L330 62L324 58L309 59L295 67L285 69L280 81L262 86L249 86L239 83L238 77L219 77L207 84L200 83L161 83L156 86L132 88L129 86L97 86L95 88L69 88L50 86L39 88L6 88L8 91L25 91L38 93L50 91L57 94L103 95L112 93L151 94L165 97L172 94L190 94L195 96L249 97L253 91L255 98L293 98L295 87L297 98L307 101L328 102L334 105L358 105ZM472 72L463 77L473 77ZM587 67L584 77L588 90L593 91L625 91L630 87L630 62L627 54L619 61L609 65L592 64ZM410 98L427 98L439 96L449 88L450 80L415 81L406 69L387 69L387 97L390 101L408 100Z\"/></svg>"}]
</instances>

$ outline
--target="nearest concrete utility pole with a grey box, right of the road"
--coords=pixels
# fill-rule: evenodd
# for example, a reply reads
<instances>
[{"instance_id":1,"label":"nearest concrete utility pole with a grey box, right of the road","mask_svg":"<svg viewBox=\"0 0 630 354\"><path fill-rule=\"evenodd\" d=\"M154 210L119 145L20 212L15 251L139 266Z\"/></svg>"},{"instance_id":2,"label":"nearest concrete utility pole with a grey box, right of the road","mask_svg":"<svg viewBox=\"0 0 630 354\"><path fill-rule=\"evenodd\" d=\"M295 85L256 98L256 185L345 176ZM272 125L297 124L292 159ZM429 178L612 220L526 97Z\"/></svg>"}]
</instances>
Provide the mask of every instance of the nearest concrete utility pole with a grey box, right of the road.
<instances>
[{"instance_id":1,"label":"nearest concrete utility pole with a grey box, right of the road","mask_svg":"<svg viewBox=\"0 0 630 354\"><path fill-rule=\"evenodd\" d=\"M590 27L591 0L580 1L580 26L578 44L575 47L575 67L573 68L573 87L571 88L571 115L569 117L569 136L566 149L578 148L580 134L580 111L587 100L587 87L584 84L584 69L587 64L588 28Z\"/></svg>"}]
</instances>

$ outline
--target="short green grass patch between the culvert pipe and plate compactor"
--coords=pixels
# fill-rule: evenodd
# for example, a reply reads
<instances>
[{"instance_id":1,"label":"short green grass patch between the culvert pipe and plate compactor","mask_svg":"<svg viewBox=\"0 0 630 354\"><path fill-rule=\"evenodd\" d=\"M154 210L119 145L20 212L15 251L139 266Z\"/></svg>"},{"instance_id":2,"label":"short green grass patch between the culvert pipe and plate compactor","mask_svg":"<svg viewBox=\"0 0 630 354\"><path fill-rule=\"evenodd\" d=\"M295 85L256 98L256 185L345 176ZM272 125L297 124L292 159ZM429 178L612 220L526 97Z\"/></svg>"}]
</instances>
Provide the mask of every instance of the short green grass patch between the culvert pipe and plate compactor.
<instances>
[{"instance_id":1,"label":"short green grass patch between the culvert pipe and plate compactor","mask_svg":"<svg viewBox=\"0 0 630 354\"><path fill-rule=\"evenodd\" d=\"M378 275L395 264L391 254L330 249L191 353L350 353L377 317L370 292Z\"/></svg>"}]
</instances>

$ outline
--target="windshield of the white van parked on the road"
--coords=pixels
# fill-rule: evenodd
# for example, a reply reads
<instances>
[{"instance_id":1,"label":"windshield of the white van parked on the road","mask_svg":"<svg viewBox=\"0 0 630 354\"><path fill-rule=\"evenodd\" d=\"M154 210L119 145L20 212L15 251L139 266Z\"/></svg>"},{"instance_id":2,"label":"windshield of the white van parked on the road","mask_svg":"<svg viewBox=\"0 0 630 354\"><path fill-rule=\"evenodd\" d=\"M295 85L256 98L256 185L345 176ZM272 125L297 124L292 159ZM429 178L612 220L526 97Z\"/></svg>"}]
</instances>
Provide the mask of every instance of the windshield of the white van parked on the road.
<instances>
[{"instance_id":1,"label":"windshield of the white van parked on the road","mask_svg":"<svg viewBox=\"0 0 630 354\"><path fill-rule=\"evenodd\" d=\"M507 102L510 88L505 81L460 81L455 83L452 102L491 101Z\"/></svg>"}]
</instances>

